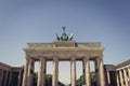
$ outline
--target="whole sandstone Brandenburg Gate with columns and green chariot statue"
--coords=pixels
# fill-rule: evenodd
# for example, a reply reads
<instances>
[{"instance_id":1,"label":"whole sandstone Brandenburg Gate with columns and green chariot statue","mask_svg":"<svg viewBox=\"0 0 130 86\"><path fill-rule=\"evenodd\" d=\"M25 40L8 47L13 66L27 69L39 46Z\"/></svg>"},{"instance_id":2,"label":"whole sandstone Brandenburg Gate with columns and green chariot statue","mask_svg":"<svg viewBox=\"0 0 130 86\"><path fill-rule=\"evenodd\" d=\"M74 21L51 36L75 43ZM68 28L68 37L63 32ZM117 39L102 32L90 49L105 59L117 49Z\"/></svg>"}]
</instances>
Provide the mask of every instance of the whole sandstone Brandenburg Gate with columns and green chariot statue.
<instances>
[{"instance_id":1,"label":"whole sandstone Brandenburg Gate with columns and green chariot statue","mask_svg":"<svg viewBox=\"0 0 130 86\"><path fill-rule=\"evenodd\" d=\"M52 86L58 86L58 62L70 61L70 84L76 86L76 61L82 61L84 85L91 86L90 60L94 61L96 86L105 86L103 51L101 43L77 43L67 38L65 32L62 38L52 43L28 43L24 48L26 64L24 69L23 86L32 86L35 61L39 61L37 86L46 86L47 61L53 61ZM61 40L63 39L63 40Z\"/></svg>"}]
</instances>

